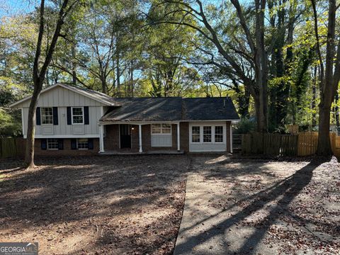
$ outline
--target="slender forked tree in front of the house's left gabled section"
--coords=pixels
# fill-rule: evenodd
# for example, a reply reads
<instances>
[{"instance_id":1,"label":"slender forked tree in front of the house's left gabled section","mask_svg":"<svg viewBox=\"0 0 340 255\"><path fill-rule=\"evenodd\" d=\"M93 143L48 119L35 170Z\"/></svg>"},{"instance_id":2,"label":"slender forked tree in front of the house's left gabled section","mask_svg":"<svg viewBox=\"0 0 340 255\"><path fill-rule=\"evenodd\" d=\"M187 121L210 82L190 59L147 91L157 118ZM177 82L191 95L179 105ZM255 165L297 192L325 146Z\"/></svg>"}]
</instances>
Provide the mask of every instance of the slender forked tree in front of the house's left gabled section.
<instances>
[{"instance_id":1,"label":"slender forked tree in front of the house's left gabled section","mask_svg":"<svg viewBox=\"0 0 340 255\"><path fill-rule=\"evenodd\" d=\"M34 142L35 142L35 111L38 104L38 98L40 92L42 91L42 85L45 81L45 76L47 72L47 67L49 66L53 52L55 52L55 47L57 45L57 40L60 38L62 26L64 24L65 18L70 11L74 8L78 1L72 1L69 4L69 0L62 1L60 6L60 11L58 13L57 23L55 26L55 33L53 34L52 40L49 45L47 45L47 54L42 56L42 38L45 33L45 0L40 2L40 25L38 33L38 41L35 50L35 58L33 62L33 95L30 101L30 106L28 109L28 128L27 128L27 140L26 140L26 154L24 167L26 169L35 167L34 164Z\"/></svg>"}]
</instances>

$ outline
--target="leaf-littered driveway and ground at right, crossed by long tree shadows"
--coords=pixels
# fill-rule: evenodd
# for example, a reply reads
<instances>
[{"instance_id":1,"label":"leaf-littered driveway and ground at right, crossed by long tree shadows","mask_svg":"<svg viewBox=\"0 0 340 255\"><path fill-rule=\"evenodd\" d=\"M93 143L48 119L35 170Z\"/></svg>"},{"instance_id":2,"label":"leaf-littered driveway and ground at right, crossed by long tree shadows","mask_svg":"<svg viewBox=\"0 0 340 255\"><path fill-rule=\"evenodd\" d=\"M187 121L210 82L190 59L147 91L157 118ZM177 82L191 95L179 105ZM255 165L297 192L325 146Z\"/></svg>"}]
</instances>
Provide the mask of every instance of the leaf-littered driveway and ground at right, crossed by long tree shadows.
<instances>
[{"instance_id":1,"label":"leaf-littered driveway and ground at right, crossed by long tree shadows","mask_svg":"<svg viewBox=\"0 0 340 255\"><path fill-rule=\"evenodd\" d=\"M196 157L191 164L181 254L340 254L335 158Z\"/></svg>"}]
</instances>

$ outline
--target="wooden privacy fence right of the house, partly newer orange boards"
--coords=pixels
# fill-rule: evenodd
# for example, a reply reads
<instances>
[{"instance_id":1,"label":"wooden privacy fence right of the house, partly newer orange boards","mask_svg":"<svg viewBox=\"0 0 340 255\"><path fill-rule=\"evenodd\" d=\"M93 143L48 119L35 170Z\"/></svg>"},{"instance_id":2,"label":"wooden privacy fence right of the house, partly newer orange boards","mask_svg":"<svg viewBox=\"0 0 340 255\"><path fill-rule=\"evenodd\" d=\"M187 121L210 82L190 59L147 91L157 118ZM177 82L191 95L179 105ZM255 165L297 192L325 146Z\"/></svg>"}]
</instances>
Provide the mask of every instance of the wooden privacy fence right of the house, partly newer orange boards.
<instances>
[{"instance_id":1,"label":"wooden privacy fence right of the house, partly newer orange boards","mask_svg":"<svg viewBox=\"0 0 340 255\"><path fill-rule=\"evenodd\" d=\"M340 137L329 134L331 147L340 157ZM261 132L242 135L242 153L268 156L307 156L317 152L317 132L280 135Z\"/></svg>"}]
</instances>

